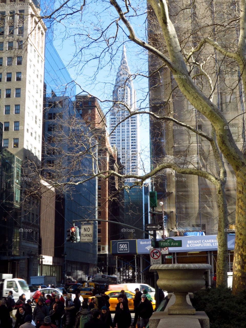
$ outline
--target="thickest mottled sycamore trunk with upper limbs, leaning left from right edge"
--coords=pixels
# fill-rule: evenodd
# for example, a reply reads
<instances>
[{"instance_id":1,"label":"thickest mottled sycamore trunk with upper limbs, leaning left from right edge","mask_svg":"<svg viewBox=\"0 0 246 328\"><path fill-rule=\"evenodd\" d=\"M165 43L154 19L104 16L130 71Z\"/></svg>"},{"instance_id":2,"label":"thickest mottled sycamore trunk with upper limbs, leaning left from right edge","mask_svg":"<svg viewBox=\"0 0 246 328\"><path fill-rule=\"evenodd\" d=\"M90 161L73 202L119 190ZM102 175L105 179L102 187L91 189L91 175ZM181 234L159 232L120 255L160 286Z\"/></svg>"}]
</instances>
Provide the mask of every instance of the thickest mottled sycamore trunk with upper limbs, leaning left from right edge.
<instances>
[{"instance_id":1,"label":"thickest mottled sycamore trunk with upper limbs, leaning left from right edge","mask_svg":"<svg viewBox=\"0 0 246 328\"><path fill-rule=\"evenodd\" d=\"M179 40L174 29L174 25L169 17L168 6L165 0L147 0L153 8L157 17L159 26L163 33L166 49L169 57L163 54L159 49L152 47L146 42L139 39L127 20L125 13L115 0L111 0L111 4L116 9L119 18L125 24L129 31L129 39L138 44L139 46L147 49L158 56L163 63L171 70L175 76L176 83L186 97L186 99L200 112L202 113L212 124L218 147L227 161L231 164L236 174L236 238L235 238L235 251L233 261L233 294L238 293L241 290L246 289L246 156L237 147L235 140L229 129L229 125L224 115L219 111L217 106L209 99L209 97L202 92L192 80L186 63L180 48ZM128 6L126 5L126 13L128 12ZM245 90L245 33L246 33L246 18L245 18L245 0L241 1L240 11L240 35L239 43L235 52L227 51L223 49L223 46L217 44L214 40L203 40L202 42L209 42L215 47L217 51L220 51L224 56L233 58L236 60ZM199 47L199 45L198 45ZM194 50L196 51L196 49ZM218 187L219 191L219 187ZM219 192L220 194L220 192ZM217 194L218 195L218 194ZM218 197L219 199L220 197ZM218 201L218 205L219 205ZM221 204L220 204L221 205ZM218 231L218 234L220 232Z\"/></svg>"}]
</instances>

